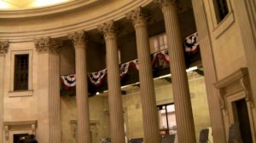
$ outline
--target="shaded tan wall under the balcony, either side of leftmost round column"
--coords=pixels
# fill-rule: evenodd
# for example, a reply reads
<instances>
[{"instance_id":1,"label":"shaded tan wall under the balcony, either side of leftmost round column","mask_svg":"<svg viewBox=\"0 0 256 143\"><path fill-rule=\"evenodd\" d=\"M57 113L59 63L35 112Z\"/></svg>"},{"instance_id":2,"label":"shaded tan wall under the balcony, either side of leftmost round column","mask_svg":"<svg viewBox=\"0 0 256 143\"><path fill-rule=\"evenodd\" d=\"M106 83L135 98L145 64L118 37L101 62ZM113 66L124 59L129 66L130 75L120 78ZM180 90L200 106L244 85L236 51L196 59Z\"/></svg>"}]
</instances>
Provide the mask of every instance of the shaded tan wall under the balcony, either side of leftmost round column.
<instances>
[{"instance_id":1,"label":"shaded tan wall under the balcony, either side of leftmost round column","mask_svg":"<svg viewBox=\"0 0 256 143\"><path fill-rule=\"evenodd\" d=\"M109 116L106 109L106 97L94 96L89 99L90 129L93 142L99 142L101 138L109 137ZM108 105L107 105L108 106ZM75 96L61 96L61 142L75 143L76 129L73 123L77 120L77 107ZM76 126L76 125L75 125Z\"/></svg>"}]
</instances>

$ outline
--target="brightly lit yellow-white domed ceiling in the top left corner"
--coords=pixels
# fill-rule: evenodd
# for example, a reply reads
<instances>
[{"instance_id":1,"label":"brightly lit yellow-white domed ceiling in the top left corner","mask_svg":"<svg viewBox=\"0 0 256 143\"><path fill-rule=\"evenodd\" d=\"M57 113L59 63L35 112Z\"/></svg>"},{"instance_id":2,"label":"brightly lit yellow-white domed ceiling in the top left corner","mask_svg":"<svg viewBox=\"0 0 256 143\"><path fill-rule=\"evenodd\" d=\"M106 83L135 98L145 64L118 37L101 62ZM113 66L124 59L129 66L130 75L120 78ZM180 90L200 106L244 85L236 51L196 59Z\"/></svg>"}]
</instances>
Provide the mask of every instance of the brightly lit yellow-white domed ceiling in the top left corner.
<instances>
[{"instance_id":1,"label":"brightly lit yellow-white domed ceiling in the top left corner","mask_svg":"<svg viewBox=\"0 0 256 143\"><path fill-rule=\"evenodd\" d=\"M0 10L33 9L74 0L0 0Z\"/></svg>"}]
</instances>

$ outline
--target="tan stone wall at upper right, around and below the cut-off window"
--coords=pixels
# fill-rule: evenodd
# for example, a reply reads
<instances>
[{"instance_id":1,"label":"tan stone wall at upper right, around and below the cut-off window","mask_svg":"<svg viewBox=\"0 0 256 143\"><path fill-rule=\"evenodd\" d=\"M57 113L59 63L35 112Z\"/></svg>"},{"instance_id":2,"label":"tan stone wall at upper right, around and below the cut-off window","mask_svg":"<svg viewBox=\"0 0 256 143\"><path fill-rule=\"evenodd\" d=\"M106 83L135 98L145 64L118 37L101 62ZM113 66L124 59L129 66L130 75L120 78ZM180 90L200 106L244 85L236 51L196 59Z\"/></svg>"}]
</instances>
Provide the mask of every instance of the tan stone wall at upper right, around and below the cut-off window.
<instances>
[{"instance_id":1,"label":"tan stone wall at upper right, around and below the cut-off window","mask_svg":"<svg viewBox=\"0 0 256 143\"><path fill-rule=\"evenodd\" d=\"M230 14L228 14L224 20L217 23L212 2L205 1L218 80L229 76L241 67L247 66L241 41L241 31L236 22L236 9L233 8L234 4L232 4L232 0L227 1L227 3Z\"/></svg>"}]
</instances>

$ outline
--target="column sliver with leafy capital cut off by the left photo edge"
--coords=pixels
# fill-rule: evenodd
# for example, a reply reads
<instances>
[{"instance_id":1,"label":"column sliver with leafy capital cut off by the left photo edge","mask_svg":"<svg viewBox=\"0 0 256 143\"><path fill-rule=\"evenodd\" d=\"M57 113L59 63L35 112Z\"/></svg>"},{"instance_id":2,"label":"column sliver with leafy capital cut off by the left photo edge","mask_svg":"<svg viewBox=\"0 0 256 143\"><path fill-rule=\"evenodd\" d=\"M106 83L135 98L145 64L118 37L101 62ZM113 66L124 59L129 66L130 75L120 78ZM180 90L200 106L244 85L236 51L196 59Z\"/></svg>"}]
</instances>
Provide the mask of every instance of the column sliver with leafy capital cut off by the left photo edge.
<instances>
[{"instance_id":1,"label":"column sliver with leafy capital cut off by the left photo edge","mask_svg":"<svg viewBox=\"0 0 256 143\"><path fill-rule=\"evenodd\" d=\"M4 88L4 66L5 54L9 49L8 41L0 41L0 142L3 142L3 88Z\"/></svg>"}]
</instances>

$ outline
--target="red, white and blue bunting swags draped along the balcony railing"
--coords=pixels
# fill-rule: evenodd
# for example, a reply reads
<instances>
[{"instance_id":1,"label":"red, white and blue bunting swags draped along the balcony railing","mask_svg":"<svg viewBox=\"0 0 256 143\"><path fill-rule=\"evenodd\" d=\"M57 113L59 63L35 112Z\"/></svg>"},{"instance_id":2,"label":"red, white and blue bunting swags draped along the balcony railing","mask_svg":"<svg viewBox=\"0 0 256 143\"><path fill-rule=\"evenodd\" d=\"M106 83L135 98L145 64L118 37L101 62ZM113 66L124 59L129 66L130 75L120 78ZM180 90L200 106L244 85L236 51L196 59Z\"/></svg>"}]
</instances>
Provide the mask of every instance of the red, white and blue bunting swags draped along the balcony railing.
<instances>
[{"instance_id":1,"label":"red, white and blue bunting swags draped along the balcony railing","mask_svg":"<svg viewBox=\"0 0 256 143\"><path fill-rule=\"evenodd\" d=\"M195 54L199 51L198 34L197 32L186 37L183 41L183 47L187 54ZM169 54L168 50L164 49L156 52L152 55L152 67L165 67L169 66ZM120 78L122 79L129 72L130 68L139 70L138 60L131 60L120 65ZM90 83L96 87L102 85L105 78L107 77L107 69L103 69L99 72L88 73ZM76 85L76 76L67 75L61 76L61 82L64 84L66 89L73 88Z\"/></svg>"}]
</instances>

